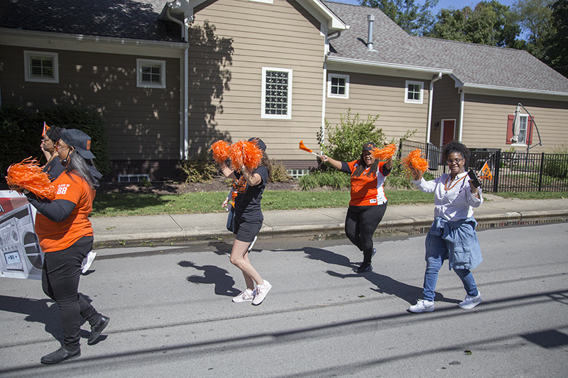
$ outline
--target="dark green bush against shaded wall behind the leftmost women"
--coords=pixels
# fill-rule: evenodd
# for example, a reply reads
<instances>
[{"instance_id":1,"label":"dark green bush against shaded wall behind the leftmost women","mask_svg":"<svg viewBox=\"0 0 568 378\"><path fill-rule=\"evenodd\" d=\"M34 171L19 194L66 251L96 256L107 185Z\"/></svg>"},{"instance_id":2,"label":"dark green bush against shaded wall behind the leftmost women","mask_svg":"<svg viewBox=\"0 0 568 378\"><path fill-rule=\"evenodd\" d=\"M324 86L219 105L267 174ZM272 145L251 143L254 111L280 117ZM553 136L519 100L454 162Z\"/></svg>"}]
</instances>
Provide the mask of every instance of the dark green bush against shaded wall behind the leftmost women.
<instances>
[{"instance_id":1,"label":"dark green bush against shaded wall behind the leftmost women","mask_svg":"<svg viewBox=\"0 0 568 378\"><path fill-rule=\"evenodd\" d=\"M1 175L6 174L9 165L30 156L37 158L40 165L45 164L40 149L44 121L49 126L77 128L87 133L92 140L91 150L97 157L94 165L102 173L110 172L107 130L99 113L70 105L48 106L35 111L4 105L0 107Z\"/></svg>"}]
</instances>

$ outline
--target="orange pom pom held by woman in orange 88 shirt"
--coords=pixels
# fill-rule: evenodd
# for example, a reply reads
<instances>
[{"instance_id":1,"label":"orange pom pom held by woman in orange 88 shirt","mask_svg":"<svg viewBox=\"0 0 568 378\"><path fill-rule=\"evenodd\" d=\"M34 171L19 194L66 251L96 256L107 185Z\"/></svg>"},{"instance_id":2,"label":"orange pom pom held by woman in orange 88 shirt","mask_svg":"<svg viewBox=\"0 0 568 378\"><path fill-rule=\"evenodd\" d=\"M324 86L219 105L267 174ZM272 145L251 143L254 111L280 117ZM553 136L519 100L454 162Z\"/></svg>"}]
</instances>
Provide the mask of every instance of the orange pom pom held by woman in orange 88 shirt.
<instances>
[{"instance_id":1,"label":"orange pom pom held by woman in orange 88 shirt","mask_svg":"<svg viewBox=\"0 0 568 378\"><path fill-rule=\"evenodd\" d=\"M9 185L27 189L40 198L51 201L55 199L55 186L50 182L48 174L31 157L8 167L6 181Z\"/></svg>"}]
</instances>

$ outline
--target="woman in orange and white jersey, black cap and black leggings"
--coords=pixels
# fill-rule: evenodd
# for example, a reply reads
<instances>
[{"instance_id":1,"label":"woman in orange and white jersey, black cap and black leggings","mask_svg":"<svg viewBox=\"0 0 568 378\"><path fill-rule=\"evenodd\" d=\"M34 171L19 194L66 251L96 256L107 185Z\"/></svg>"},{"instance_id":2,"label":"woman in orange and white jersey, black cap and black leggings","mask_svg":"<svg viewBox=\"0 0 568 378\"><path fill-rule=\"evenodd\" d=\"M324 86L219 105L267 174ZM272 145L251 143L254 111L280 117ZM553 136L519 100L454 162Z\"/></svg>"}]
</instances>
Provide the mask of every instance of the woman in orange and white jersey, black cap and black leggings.
<instances>
[{"instance_id":1,"label":"woman in orange and white jersey, black cap and black leggings","mask_svg":"<svg viewBox=\"0 0 568 378\"><path fill-rule=\"evenodd\" d=\"M357 273L371 272L371 258L376 252L373 248L373 233L381 223L386 211L386 196L383 184L391 169L393 160L379 162L371 151L374 143L366 143L359 160L339 162L321 155L322 162L329 162L342 172L351 174L351 201L345 218L345 235L363 252L363 263Z\"/></svg>"}]
</instances>

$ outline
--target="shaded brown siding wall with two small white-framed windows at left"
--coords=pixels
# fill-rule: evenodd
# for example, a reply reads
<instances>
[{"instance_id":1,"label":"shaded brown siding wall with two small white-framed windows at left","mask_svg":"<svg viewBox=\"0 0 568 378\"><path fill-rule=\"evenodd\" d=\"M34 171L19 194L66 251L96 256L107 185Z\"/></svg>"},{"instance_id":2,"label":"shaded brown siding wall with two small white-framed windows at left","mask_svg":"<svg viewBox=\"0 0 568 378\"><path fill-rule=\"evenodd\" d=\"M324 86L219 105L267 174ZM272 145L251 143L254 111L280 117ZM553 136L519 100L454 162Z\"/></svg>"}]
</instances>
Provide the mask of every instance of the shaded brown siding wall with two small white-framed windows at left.
<instances>
[{"instance_id":1,"label":"shaded brown siding wall with two small white-framed windows at left","mask_svg":"<svg viewBox=\"0 0 568 378\"><path fill-rule=\"evenodd\" d=\"M74 104L102 113L111 160L178 160L180 60L164 60L166 88L136 87L135 55L58 52L59 84L23 83L23 48L0 47L2 104L38 109ZM35 49L37 50L37 49Z\"/></svg>"}]
</instances>

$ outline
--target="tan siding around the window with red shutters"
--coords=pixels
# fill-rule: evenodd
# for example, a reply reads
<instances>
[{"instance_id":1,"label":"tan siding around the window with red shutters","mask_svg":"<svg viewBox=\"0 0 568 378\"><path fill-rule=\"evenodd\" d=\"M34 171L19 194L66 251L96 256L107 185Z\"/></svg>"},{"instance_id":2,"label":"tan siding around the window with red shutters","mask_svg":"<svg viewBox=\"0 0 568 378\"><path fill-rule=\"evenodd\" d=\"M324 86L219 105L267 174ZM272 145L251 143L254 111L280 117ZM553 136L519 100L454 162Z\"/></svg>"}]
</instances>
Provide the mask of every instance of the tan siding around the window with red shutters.
<instances>
[{"instance_id":1,"label":"tan siding around the window with red shutters","mask_svg":"<svg viewBox=\"0 0 568 378\"><path fill-rule=\"evenodd\" d=\"M508 97L466 94L462 133L464 144L474 148L509 150L512 146L506 144L507 116L515 113L518 103L519 99ZM530 152L545 152L565 145L568 140L568 101L522 99L520 103L535 117L542 138L542 146L531 148ZM523 109L521 113L526 114ZM533 128L532 145L537 144L538 136ZM520 151L526 150L526 146L513 147Z\"/></svg>"}]
</instances>

